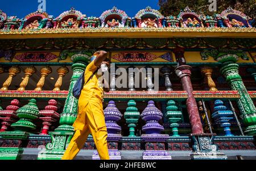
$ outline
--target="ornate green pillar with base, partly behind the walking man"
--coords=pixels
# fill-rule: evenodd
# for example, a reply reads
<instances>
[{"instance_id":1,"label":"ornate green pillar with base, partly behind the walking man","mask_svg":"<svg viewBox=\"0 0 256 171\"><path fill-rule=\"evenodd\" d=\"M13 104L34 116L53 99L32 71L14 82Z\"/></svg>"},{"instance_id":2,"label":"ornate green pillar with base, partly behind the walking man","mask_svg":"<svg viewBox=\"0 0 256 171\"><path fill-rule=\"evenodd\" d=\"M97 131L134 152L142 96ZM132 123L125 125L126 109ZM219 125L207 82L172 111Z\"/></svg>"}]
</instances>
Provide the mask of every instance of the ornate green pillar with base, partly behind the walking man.
<instances>
[{"instance_id":1,"label":"ornate green pillar with base, partly behind the walking man","mask_svg":"<svg viewBox=\"0 0 256 171\"><path fill-rule=\"evenodd\" d=\"M61 159L74 133L72 125L77 117L78 100L72 95L72 91L77 79L79 79L80 75L85 70L90 57L86 54L75 54L71 59L73 59L74 63L72 65L73 75L68 89L68 96L65 101L64 109L60 114L60 126L57 127L54 132L49 132L49 135L51 135L51 143L47 144L46 151L39 153L38 159Z\"/></svg>"}]
</instances>

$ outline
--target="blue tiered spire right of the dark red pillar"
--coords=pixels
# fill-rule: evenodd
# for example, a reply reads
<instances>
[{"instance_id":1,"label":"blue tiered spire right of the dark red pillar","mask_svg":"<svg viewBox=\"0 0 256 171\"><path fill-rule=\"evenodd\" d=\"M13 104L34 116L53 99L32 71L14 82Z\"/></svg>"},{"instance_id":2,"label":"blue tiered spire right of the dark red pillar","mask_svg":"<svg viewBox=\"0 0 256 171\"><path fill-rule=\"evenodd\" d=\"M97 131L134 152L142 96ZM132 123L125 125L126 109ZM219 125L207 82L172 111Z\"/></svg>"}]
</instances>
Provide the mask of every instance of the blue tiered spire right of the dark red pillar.
<instances>
[{"instance_id":1,"label":"blue tiered spire right of the dark red pillar","mask_svg":"<svg viewBox=\"0 0 256 171\"><path fill-rule=\"evenodd\" d=\"M221 127L224 127L225 136L233 136L230 131L231 124L228 122L233 119L233 112L231 110L226 110L226 106L223 105L223 101L216 100L214 102L214 113L212 118L216 123L220 123Z\"/></svg>"}]
</instances>

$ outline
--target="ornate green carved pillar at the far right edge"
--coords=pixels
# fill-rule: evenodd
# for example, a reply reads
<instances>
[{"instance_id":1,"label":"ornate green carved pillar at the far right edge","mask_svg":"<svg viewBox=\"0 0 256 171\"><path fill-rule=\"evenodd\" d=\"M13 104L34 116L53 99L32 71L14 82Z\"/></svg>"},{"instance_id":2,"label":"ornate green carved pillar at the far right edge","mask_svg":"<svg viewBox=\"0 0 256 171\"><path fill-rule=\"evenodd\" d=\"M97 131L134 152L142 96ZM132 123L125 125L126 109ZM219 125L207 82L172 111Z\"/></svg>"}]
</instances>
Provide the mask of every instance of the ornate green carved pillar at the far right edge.
<instances>
[{"instance_id":1,"label":"ornate green carved pillar at the far right edge","mask_svg":"<svg viewBox=\"0 0 256 171\"><path fill-rule=\"evenodd\" d=\"M240 100L237 101L237 104L242 114L243 123L247 126L245 133L256 135L256 108L239 75L237 59L237 54L226 54L218 57L217 61L223 64L221 73L225 76L230 88L240 94Z\"/></svg>"}]
</instances>

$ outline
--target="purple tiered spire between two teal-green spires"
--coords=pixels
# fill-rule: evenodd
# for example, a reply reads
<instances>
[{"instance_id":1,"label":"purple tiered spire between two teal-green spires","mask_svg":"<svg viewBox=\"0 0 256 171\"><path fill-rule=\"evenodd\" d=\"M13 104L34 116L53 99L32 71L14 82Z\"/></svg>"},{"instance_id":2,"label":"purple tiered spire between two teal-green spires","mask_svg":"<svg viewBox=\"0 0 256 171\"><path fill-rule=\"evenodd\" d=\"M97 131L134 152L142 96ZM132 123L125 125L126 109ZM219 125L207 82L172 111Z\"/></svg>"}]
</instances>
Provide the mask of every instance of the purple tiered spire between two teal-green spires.
<instances>
[{"instance_id":1,"label":"purple tiered spire between two teal-green spires","mask_svg":"<svg viewBox=\"0 0 256 171\"><path fill-rule=\"evenodd\" d=\"M142 127L142 131L146 134L160 134L164 127L158 123L163 117L163 113L156 108L154 101L148 101L147 107L143 110L141 117L146 121L146 125Z\"/></svg>"}]
</instances>

